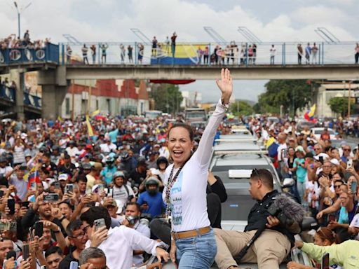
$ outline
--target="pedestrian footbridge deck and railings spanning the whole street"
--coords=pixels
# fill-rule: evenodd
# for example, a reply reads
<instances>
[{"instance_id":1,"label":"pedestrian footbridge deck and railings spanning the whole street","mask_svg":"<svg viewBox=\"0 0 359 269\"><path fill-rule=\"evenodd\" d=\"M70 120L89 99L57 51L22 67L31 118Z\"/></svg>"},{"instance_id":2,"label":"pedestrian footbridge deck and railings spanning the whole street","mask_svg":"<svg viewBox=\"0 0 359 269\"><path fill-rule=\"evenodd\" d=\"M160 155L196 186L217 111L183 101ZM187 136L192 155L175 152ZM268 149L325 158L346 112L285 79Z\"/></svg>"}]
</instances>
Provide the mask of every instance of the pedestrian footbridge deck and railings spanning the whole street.
<instances>
[{"instance_id":1,"label":"pedestrian footbridge deck and railings spanning the whole street","mask_svg":"<svg viewBox=\"0 0 359 269\"><path fill-rule=\"evenodd\" d=\"M313 47L313 42L310 44ZM57 73L66 80L203 80L217 77L219 68L228 67L234 79L359 78L355 43L316 42L318 51L308 59L306 44L302 43L301 62L297 46L298 43L177 43L172 51L165 44L151 48L150 43L50 43L41 50L0 50L0 74L19 67L25 71L60 67Z\"/></svg>"}]
</instances>

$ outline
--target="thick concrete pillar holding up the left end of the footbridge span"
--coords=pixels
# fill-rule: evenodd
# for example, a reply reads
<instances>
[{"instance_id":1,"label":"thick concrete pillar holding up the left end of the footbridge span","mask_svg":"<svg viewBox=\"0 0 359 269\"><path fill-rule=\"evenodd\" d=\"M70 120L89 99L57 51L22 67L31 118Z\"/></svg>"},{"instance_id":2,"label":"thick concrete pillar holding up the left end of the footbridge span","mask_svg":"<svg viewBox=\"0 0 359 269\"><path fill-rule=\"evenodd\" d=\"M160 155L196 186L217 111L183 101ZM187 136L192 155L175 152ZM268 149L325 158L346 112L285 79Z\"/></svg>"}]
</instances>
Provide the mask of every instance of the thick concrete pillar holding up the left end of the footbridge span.
<instances>
[{"instance_id":1,"label":"thick concrete pillar holding up the left end of the footbridge span","mask_svg":"<svg viewBox=\"0 0 359 269\"><path fill-rule=\"evenodd\" d=\"M67 86L42 85L42 118L56 120L60 116L66 93Z\"/></svg>"}]
</instances>

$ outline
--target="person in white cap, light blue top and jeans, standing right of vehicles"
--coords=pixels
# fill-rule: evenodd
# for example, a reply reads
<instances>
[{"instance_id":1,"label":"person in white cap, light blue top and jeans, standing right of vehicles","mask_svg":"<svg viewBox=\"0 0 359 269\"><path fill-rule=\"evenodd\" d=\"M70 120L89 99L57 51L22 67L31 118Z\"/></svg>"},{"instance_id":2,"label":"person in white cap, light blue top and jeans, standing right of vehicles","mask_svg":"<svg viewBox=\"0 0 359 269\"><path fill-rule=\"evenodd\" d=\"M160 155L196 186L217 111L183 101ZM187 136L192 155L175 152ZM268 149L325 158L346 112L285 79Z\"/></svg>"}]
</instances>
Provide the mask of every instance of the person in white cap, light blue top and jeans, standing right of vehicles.
<instances>
[{"instance_id":1,"label":"person in white cap, light blue top and jeans, standing right of vehicles","mask_svg":"<svg viewBox=\"0 0 359 269\"><path fill-rule=\"evenodd\" d=\"M299 198L302 201L302 205L304 205L304 193L306 192L306 165L305 156L306 152L304 151L302 146L297 146L295 148L295 155L297 158L294 158L293 169L297 174L297 190L299 193Z\"/></svg>"}]
</instances>

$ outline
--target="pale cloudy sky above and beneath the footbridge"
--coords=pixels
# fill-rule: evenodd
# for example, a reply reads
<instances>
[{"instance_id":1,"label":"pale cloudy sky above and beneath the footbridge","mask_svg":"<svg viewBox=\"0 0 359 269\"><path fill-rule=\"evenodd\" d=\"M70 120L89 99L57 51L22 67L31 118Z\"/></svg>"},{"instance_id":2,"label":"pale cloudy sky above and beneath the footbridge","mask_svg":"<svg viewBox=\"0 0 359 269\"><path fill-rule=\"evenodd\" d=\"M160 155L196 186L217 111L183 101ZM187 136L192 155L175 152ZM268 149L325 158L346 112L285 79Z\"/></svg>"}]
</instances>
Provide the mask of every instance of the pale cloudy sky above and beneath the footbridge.
<instances>
[{"instance_id":1,"label":"pale cloudy sky above and beneath the footbridge","mask_svg":"<svg viewBox=\"0 0 359 269\"><path fill-rule=\"evenodd\" d=\"M65 41L72 34L81 42L139 41L130 31L138 28L149 37L176 31L177 42L212 41L203 30L213 27L224 39L245 42L238 26L248 27L262 41L320 41L317 27L330 29L340 41L359 40L358 0L18 0L22 33L32 39L50 37ZM13 1L0 0L0 38L18 32ZM256 101L266 81L234 81L236 99ZM196 81L181 90L202 93L205 102L215 102L215 81Z\"/></svg>"}]
</instances>

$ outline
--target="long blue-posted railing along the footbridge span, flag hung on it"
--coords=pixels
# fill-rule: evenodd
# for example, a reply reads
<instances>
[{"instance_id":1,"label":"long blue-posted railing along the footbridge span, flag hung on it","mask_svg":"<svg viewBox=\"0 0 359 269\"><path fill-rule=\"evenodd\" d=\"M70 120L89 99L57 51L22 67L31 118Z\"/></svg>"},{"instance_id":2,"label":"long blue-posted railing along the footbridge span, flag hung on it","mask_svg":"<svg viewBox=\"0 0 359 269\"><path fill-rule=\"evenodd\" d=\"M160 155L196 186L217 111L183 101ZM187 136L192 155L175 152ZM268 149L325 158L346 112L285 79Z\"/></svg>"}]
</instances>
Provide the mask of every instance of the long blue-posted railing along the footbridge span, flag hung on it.
<instances>
[{"instance_id":1,"label":"long blue-posted railing along the footbridge span, flag hung on it","mask_svg":"<svg viewBox=\"0 0 359 269\"><path fill-rule=\"evenodd\" d=\"M302 45L302 61L299 62L299 43ZM306 59L306 46L313 41L285 43L177 43L173 54L171 44L158 43L152 48L151 43L107 42L82 44L60 43L61 64L85 64L83 50L87 50L86 64L354 64L355 42L325 43L315 42L317 53L313 52ZM271 51L271 48L275 50ZM69 47L67 47L69 46ZM255 46L255 51L253 50ZM95 54L91 47L95 48ZM208 50L208 61L205 61ZM252 53L251 53L252 52ZM130 60L132 55L132 61Z\"/></svg>"}]
</instances>

